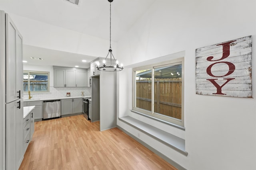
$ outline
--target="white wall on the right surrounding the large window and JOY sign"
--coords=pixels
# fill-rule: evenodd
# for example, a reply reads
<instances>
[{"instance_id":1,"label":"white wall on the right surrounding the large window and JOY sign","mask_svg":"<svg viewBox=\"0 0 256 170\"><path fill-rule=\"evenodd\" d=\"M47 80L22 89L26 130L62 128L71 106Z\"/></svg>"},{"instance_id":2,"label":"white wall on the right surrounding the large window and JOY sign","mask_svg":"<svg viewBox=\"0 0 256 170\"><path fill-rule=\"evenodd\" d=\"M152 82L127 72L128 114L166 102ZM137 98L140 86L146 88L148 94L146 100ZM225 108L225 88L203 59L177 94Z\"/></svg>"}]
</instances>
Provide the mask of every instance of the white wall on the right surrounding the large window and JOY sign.
<instances>
[{"instance_id":1,"label":"white wall on the right surrounding the large window and JOY sign","mask_svg":"<svg viewBox=\"0 0 256 170\"><path fill-rule=\"evenodd\" d=\"M252 35L256 41L256 0L158 0L118 41L125 66L185 51L185 139L188 156L144 137L148 145L189 170L256 169L256 74L254 98L196 95L195 50ZM256 49L256 43L252 43ZM254 62L256 50L252 52ZM119 73L118 115L131 115L131 68ZM256 66L252 63L252 70ZM123 97L122 97L123 96ZM125 97L124 97L125 96ZM139 118L142 119L142 118ZM119 126L137 136L129 126ZM151 122L155 124L154 121ZM158 127L159 125L156 125Z\"/></svg>"}]
</instances>

